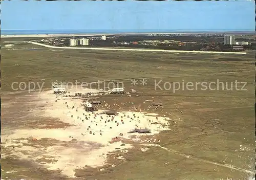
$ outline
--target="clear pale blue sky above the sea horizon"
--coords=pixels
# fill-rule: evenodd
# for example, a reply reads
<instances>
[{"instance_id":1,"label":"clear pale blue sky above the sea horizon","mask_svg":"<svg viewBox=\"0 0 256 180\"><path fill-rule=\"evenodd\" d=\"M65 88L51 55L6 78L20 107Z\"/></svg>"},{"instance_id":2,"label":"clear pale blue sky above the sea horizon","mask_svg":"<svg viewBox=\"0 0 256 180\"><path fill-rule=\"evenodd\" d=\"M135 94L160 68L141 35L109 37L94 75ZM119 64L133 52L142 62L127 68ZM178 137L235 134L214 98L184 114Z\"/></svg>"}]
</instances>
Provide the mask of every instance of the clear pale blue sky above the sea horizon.
<instances>
[{"instance_id":1,"label":"clear pale blue sky above the sea horizon","mask_svg":"<svg viewBox=\"0 0 256 180\"><path fill-rule=\"evenodd\" d=\"M2 1L2 30L254 31L254 1Z\"/></svg>"}]
</instances>

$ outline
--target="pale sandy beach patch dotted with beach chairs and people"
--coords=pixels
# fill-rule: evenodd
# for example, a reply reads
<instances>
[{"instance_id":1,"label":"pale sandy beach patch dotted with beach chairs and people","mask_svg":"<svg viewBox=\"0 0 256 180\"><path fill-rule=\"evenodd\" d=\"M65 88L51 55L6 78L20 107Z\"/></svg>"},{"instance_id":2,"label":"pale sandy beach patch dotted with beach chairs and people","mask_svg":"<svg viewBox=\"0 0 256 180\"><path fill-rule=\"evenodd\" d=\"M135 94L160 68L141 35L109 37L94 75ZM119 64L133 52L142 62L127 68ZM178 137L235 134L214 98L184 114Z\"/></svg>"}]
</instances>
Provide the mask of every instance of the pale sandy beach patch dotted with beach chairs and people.
<instances>
[{"instance_id":1,"label":"pale sandy beach patch dotted with beach chairs and people","mask_svg":"<svg viewBox=\"0 0 256 180\"><path fill-rule=\"evenodd\" d=\"M71 89L70 95L96 91L95 89ZM52 157L50 159L56 162L44 163L44 165L50 170L60 169L63 175L69 177L75 177L74 170L77 168L83 168L84 166L103 166L106 163L106 154L116 151L115 148L119 148L119 150L132 148L132 144L121 146L123 144L121 141L126 139L138 142L140 141L139 137L143 136L143 134L127 133L131 129L150 128L150 134L156 134L168 129L167 126L162 126L163 124L168 125L168 118L157 118L157 114L147 116L143 112L125 111L119 112L117 116L97 115L102 110L95 111L94 114L86 112L83 109L84 107L81 106L82 101L80 98L56 97L52 90L42 92L38 94L38 97L41 99L38 105L44 104L44 108L41 110L35 109L31 112L38 119L40 117L59 118L62 122L70 123L74 126L65 129L19 129L15 133L3 138L6 143L5 146L13 146L15 145L13 143L14 139L24 138L26 140L16 143L16 155L20 156L20 158L34 161L43 156ZM120 136L120 133L122 133L122 136ZM115 137L118 137L118 139L112 143L111 141ZM75 139L76 143L72 146L63 147L59 144L42 149L31 146L20 146L21 143L26 143L31 138L36 138L36 140L49 138L62 142L72 142ZM156 141L159 140L154 140L154 142ZM152 141L151 143L154 142ZM141 143L145 143L145 141L141 141ZM25 155L22 153L23 151L28 151L29 153Z\"/></svg>"}]
</instances>

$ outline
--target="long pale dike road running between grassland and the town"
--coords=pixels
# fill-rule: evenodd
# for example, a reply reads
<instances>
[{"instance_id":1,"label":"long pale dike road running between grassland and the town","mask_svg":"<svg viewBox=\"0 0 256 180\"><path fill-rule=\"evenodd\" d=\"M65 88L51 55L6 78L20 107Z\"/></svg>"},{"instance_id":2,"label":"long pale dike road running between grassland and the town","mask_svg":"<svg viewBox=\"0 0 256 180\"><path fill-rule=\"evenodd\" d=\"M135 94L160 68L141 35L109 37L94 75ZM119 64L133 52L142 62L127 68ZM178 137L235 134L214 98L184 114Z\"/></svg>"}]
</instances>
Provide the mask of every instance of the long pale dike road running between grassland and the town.
<instances>
[{"instance_id":1,"label":"long pale dike road running between grassland and the town","mask_svg":"<svg viewBox=\"0 0 256 180\"><path fill-rule=\"evenodd\" d=\"M126 49L126 48L81 48L81 47L56 47L33 41L5 41L4 43L32 43L37 46L43 46L53 49L74 49L74 50L104 50L104 51L146 51L146 52L164 52L164 53L208 53L208 54L246 54L246 52L217 52L217 51L179 51L179 50L157 50L157 49Z\"/></svg>"}]
</instances>

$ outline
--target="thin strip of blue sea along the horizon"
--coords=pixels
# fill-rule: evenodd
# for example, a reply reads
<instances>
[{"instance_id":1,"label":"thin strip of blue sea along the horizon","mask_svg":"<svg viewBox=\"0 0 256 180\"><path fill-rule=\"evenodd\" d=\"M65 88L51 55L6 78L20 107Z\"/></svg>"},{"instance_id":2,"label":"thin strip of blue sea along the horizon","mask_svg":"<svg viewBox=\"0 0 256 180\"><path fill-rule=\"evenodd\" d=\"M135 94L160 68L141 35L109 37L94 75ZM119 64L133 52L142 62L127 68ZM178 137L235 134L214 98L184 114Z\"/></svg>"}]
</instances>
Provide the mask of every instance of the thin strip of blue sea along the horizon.
<instances>
[{"instance_id":1,"label":"thin strip of blue sea along the horizon","mask_svg":"<svg viewBox=\"0 0 256 180\"><path fill-rule=\"evenodd\" d=\"M251 30L1 30L1 35L28 34L142 34L142 33L253 33Z\"/></svg>"}]
</instances>

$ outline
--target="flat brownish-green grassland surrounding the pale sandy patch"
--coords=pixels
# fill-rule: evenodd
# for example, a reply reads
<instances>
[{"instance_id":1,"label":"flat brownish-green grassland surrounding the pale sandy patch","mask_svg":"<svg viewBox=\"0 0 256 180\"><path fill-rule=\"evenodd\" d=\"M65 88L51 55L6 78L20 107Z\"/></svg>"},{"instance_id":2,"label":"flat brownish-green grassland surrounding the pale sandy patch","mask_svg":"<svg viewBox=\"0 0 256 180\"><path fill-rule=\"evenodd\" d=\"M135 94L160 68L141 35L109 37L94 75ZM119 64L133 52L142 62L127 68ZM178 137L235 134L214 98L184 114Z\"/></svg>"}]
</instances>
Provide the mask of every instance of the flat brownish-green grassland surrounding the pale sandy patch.
<instances>
[{"instance_id":1,"label":"flat brownish-green grassland surrounding the pale sandy patch","mask_svg":"<svg viewBox=\"0 0 256 180\"><path fill-rule=\"evenodd\" d=\"M209 55L56 51L33 44L15 45L17 49L27 49L11 50L12 48L14 47L2 48L1 52L2 133L19 128L18 119L13 122L12 118L20 116L19 110L27 106L29 101L24 93L11 93L12 82L41 83L40 79L45 79L44 88L50 88L51 82L56 79L66 82L122 81L125 89L133 88L139 92L138 97L129 99L134 105L140 105L147 99L161 101L164 109L157 113L161 115L168 112L176 121L170 127L171 130L159 135L162 140L159 145L168 150L152 147L142 152L139 147L134 148L123 155L126 161L106 172L95 169L78 170L77 176L81 179L84 179L83 175L88 179L248 179L251 176L244 171L207 161L254 170L254 52L246 55ZM147 80L144 86L131 84L131 79L143 78ZM231 82L236 80L247 84L244 87L246 91L234 88L232 91L203 91L200 88L189 91L184 88L174 93L173 88L155 90L155 81L160 80L162 88L164 82L210 83L219 80L227 82L229 88ZM216 86L213 85L212 88L214 87ZM238 85L238 88L241 87L241 84ZM24 99L17 101L15 97ZM104 97L106 101L117 99L127 101L123 97ZM8 103L15 104L15 107L8 108ZM177 106L179 110L176 110ZM246 149L241 150L240 145ZM185 158L182 154L188 154L192 158ZM19 171L19 175L3 172L3 178L65 179L57 172L41 167L33 168L33 164L20 162L15 157L2 156L1 162L5 172Z\"/></svg>"}]
</instances>

